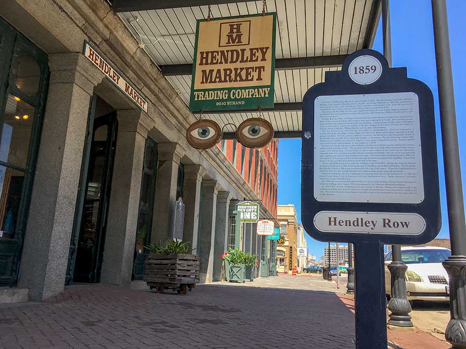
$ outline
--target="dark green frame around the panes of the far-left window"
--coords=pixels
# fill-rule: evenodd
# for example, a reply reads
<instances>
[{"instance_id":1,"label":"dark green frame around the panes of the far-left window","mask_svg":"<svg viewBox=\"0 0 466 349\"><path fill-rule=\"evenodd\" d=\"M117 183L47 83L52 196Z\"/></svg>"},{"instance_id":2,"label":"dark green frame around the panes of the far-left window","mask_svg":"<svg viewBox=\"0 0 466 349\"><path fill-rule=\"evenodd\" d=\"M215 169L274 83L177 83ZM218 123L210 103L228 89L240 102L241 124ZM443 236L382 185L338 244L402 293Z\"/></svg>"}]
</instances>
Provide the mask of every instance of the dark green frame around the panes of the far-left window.
<instances>
[{"instance_id":1,"label":"dark green frame around the panes of the far-left window","mask_svg":"<svg viewBox=\"0 0 466 349\"><path fill-rule=\"evenodd\" d=\"M16 86L12 74L10 74L12 60L22 54L31 57L40 68L40 80L37 93L34 95L21 91ZM47 54L0 17L0 120L3 120L4 106L9 94L19 97L34 108L26 168L19 168L0 161L0 165L24 173L14 238L0 238L0 260L2 261L0 265L0 286L14 286L18 278L49 77ZM0 134L1 131L2 127L0 127Z\"/></svg>"}]
</instances>

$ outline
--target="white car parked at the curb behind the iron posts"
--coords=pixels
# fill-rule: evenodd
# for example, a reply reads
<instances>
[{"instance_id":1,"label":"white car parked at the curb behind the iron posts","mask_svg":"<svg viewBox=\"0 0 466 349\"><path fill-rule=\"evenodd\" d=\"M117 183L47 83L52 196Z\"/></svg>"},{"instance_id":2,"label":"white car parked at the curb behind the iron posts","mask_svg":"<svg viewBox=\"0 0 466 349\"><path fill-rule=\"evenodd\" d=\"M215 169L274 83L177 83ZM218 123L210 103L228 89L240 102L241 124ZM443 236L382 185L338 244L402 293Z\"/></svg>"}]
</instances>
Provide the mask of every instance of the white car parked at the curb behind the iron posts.
<instances>
[{"instance_id":1,"label":"white car parked at the curb behind the iron posts","mask_svg":"<svg viewBox=\"0 0 466 349\"><path fill-rule=\"evenodd\" d=\"M401 247L406 270L406 291L409 301L449 301L449 279L442 262L451 255L449 249L430 246ZM392 252L385 257L385 292L391 293L390 270Z\"/></svg>"}]
</instances>

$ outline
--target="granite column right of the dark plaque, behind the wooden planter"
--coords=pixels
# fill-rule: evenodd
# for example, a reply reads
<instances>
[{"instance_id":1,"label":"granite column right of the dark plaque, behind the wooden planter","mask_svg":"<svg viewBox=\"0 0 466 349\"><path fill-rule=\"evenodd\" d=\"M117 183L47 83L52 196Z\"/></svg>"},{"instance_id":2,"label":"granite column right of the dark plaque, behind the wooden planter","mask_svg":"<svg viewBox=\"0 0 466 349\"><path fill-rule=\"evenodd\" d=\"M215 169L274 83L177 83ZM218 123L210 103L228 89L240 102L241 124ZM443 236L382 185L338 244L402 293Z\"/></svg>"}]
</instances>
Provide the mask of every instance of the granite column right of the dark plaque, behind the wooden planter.
<instances>
[{"instance_id":1,"label":"granite column right of the dark plaque, behind the wooden planter","mask_svg":"<svg viewBox=\"0 0 466 349\"><path fill-rule=\"evenodd\" d=\"M184 165L184 232L183 241L190 241L194 254L198 254L200 187L205 169L201 165Z\"/></svg>"}]
</instances>

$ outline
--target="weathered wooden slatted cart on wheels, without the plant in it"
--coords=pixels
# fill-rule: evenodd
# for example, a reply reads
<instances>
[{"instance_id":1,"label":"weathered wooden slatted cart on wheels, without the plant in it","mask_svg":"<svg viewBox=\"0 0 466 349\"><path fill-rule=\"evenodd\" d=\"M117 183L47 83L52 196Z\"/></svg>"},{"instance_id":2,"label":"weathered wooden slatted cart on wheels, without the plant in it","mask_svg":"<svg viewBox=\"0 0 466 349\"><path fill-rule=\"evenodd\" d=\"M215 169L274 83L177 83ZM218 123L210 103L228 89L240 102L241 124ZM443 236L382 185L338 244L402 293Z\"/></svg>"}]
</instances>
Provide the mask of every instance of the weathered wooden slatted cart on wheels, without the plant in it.
<instances>
[{"instance_id":1,"label":"weathered wooden slatted cart on wheels, without the plant in it","mask_svg":"<svg viewBox=\"0 0 466 349\"><path fill-rule=\"evenodd\" d=\"M199 282L199 257L195 254L149 254L144 281L157 293L171 288L186 294Z\"/></svg>"}]
</instances>

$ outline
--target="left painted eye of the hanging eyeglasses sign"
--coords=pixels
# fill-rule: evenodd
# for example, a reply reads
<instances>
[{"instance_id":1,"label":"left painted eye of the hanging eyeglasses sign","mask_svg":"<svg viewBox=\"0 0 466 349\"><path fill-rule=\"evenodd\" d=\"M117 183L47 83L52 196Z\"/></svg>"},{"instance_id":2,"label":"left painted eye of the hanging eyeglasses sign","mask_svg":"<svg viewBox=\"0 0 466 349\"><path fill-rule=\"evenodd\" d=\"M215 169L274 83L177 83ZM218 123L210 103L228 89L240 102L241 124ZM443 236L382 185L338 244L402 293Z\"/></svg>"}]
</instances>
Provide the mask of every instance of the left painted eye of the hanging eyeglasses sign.
<instances>
[{"instance_id":1,"label":"left painted eye of the hanging eyeglasses sign","mask_svg":"<svg viewBox=\"0 0 466 349\"><path fill-rule=\"evenodd\" d=\"M212 120L198 120L186 131L186 140L196 149L212 148L220 142L222 136L220 126Z\"/></svg>"}]
</instances>

